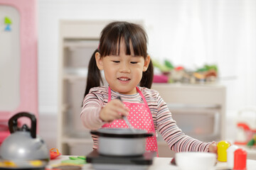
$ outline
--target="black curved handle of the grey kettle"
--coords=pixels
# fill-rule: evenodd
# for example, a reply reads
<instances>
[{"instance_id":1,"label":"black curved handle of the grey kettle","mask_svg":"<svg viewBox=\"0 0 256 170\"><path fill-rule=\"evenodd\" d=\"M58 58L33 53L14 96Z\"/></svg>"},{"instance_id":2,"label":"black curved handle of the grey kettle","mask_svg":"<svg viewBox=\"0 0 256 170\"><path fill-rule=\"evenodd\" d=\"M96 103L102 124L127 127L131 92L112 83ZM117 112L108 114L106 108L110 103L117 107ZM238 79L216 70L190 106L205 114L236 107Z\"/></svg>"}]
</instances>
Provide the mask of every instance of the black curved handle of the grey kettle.
<instances>
[{"instance_id":1,"label":"black curved handle of the grey kettle","mask_svg":"<svg viewBox=\"0 0 256 170\"><path fill-rule=\"evenodd\" d=\"M11 133L15 132L17 130L17 126L18 126L18 118L21 117L27 117L31 119L31 137L36 138L36 116L31 114L31 113L27 113L27 112L21 112L21 113L17 113L16 115L12 116L9 119L8 125L9 125L9 130Z\"/></svg>"}]
</instances>

